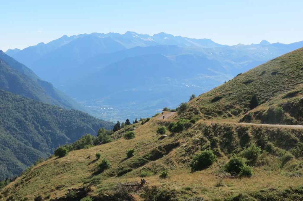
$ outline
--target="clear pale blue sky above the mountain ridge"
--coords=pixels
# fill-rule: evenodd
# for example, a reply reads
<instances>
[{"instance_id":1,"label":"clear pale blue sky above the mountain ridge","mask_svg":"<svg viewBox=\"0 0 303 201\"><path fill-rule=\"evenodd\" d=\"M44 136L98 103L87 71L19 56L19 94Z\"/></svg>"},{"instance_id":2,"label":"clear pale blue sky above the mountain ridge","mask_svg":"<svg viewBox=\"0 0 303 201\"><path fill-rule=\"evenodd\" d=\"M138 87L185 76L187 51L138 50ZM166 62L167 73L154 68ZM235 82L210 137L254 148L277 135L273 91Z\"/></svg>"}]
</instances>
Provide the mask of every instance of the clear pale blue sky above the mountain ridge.
<instances>
[{"instance_id":1,"label":"clear pale blue sky above the mountain ridge","mask_svg":"<svg viewBox=\"0 0 303 201\"><path fill-rule=\"evenodd\" d=\"M220 44L303 41L301 0L1 1L0 49L23 49L63 35L169 33Z\"/></svg>"}]
</instances>

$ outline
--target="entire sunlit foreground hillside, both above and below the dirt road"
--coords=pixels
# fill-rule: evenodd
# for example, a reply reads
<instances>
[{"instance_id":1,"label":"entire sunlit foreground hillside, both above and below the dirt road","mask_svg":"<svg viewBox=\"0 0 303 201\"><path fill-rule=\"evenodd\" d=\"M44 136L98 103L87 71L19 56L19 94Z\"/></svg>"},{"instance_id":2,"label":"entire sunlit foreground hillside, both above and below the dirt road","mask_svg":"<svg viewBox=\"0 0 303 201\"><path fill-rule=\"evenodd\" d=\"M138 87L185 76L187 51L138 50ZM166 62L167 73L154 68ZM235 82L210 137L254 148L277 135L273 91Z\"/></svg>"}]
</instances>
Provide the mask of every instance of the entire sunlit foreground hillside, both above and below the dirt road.
<instances>
[{"instance_id":1,"label":"entire sunlit foreground hillside, both above and below the dirt road","mask_svg":"<svg viewBox=\"0 0 303 201\"><path fill-rule=\"evenodd\" d=\"M56 149L0 200L303 200L303 129L238 123L302 124L302 75L303 48L125 125L112 142Z\"/></svg>"}]
</instances>

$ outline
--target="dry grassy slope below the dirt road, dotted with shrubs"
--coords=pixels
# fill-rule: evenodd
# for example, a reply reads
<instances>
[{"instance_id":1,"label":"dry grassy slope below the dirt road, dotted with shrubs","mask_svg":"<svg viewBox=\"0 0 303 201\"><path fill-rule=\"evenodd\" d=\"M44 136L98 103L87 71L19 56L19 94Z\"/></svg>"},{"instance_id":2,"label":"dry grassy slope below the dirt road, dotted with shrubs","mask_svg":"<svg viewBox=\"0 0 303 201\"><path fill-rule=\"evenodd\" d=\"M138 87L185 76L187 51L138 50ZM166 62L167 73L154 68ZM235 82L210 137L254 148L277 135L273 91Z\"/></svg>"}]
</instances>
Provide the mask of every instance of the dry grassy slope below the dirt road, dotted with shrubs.
<instances>
[{"instance_id":1,"label":"dry grassy slope below the dirt road, dotted with shrubs","mask_svg":"<svg viewBox=\"0 0 303 201\"><path fill-rule=\"evenodd\" d=\"M42 200L80 200L87 196L94 200L303 199L303 130L199 121L181 132L167 131L168 137L159 140L157 128L171 121L151 118L144 125L139 122L125 128L136 128L134 139L119 138L46 160L3 189L1 200L34 200L38 196ZM116 136L118 133L123 130ZM253 169L251 178L218 177L224 176L231 156L243 156L243 147L252 144L261 152L255 162L245 159ZM126 152L131 148L135 155L128 158ZM301 152L296 152L298 148ZM212 150L217 160L205 169L193 171L191 160L205 149ZM100 159L96 153L101 154ZM100 171L98 165L104 158L111 167ZM167 177L163 170L168 171ZM121 186L140 182L141 178L148 183L138 188ZM83 194L69 192L69 188Z\"/></svg>"}]
</instances>

